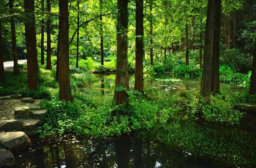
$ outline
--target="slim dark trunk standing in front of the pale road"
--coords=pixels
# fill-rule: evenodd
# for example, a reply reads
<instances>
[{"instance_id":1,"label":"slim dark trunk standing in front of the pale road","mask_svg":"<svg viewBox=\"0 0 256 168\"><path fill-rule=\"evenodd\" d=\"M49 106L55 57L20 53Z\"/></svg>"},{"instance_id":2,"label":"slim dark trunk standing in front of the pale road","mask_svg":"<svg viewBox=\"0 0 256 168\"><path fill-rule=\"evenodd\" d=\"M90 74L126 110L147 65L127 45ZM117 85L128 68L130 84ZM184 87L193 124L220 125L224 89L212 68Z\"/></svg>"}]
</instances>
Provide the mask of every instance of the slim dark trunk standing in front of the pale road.
<instances>
[{"instance_id":1,"label":"slim dark trunk standing in front of the pale road","mask_svg":"<svg viewBox=\"0 0 256 168\"><path fill-rule=\"evenodd\" d=\"M9 8L11 14L13 13L13 0L9 0ZM16 45L16 32L15 32L15 21L14 17L10 18L11 22L11 31L12 31L12 55L13 55L13 73L18 74L18 54L17 54L17 45Z\"/></svg>"}]
</instances>

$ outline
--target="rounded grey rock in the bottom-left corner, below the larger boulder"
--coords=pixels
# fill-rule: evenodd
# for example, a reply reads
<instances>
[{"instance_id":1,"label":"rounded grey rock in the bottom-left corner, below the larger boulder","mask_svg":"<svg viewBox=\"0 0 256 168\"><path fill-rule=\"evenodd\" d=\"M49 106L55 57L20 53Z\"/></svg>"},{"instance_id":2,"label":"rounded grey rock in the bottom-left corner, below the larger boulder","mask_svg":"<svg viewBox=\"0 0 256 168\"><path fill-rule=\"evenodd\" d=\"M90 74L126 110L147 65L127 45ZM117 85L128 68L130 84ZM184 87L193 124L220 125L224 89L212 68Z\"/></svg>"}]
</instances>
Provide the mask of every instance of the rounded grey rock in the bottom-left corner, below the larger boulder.
<instances>
[{"instance_id":1,"label":"rounded grey rock in the bottom-left corner, below the larger boulder","mask_svg":"<svg viewBox=\"0 0 256 168\"><path fill-rule=\"evenodd\" d=\"M0 167L13 166L15 163L14 156L10 150L0 149Z\"/></svg>"}]
</instances>

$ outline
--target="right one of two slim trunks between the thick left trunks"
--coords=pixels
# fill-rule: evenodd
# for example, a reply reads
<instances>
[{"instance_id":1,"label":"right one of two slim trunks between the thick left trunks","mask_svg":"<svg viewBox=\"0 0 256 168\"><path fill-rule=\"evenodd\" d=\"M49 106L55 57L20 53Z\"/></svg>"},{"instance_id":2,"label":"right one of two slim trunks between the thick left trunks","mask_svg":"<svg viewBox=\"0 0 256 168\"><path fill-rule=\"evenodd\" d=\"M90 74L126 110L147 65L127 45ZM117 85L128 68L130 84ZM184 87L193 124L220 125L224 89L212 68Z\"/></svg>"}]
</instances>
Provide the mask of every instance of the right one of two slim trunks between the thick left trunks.
<instances>
[{"instance_id":1,"label":"right one of two slim trunks between the thick left trunks","mask_svg":"<svg viewBox=\"0 0 256 168\"><path fill-rule=\"evenodd\" d=\"M51 60L51 2L47 0L47 57L46 57L46 69L52 69L52 60Z\"/></svg>"}]
</instances>

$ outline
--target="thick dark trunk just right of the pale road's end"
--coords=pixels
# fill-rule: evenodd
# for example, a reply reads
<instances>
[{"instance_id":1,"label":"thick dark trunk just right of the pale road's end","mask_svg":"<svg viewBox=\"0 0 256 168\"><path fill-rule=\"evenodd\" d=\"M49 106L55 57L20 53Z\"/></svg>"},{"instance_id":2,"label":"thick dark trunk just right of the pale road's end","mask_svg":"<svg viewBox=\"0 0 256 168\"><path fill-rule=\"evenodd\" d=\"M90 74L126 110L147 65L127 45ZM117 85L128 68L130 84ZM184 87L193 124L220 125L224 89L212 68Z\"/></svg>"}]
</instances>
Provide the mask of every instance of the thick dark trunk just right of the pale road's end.
<instances>
[{"instance_id":1,"label":"thick dark trunk just right of the pale road's end","mask_svg":"<svg viewBox=\"0 0 256 168\"><path fill-rule=\"evenodd\" d=\"M34 0L24 0L24 9L28 20L25 22L25 37L27 49L27 71L28 88L37 90L38 88L38 69L37 69L37 50L36 50L36 22Z\"/></svg>"}]
</instances>

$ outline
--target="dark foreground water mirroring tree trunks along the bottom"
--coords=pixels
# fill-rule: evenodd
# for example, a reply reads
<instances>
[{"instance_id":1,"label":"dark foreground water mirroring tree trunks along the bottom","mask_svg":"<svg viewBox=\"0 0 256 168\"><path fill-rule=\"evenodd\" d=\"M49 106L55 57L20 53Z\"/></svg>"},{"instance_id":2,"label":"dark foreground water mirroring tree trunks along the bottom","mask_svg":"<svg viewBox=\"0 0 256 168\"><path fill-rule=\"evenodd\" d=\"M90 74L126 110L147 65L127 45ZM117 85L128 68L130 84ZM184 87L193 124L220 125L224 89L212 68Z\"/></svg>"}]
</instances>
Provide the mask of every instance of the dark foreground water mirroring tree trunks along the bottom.
<instances>
[{"instance_id":1,"label":"dark foreground water mirroring tree trunks along the bottom","mask_svg":"<svg viewBox=\"0 0 256 168\"><path fill-rule=\"evenodd\" d=\"M14 168L215 168L189 153L141 139L111 142L78 141L74 137L34 143L15 153Z\"/></svg>"}]
</instances>

